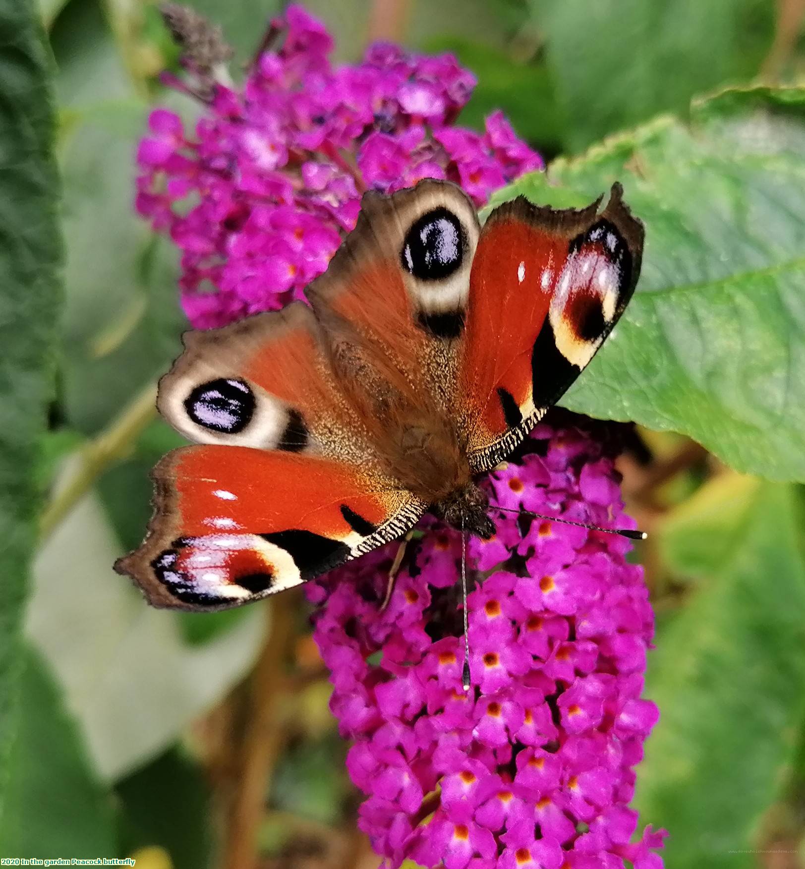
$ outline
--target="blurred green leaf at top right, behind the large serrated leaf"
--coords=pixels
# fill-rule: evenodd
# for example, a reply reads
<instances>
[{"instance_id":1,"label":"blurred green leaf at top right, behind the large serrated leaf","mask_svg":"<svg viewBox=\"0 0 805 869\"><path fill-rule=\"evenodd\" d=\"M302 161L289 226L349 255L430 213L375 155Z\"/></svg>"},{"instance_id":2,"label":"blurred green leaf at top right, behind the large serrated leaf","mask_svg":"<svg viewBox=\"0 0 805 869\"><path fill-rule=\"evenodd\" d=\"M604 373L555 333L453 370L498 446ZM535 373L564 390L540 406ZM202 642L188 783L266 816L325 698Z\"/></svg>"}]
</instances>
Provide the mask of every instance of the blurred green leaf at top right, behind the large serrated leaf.
<instances>
[{"instance_id":1,"label":"blurred green leaf at top right, behind the large serrated leaf","mask_svg":"<svg viewBox=\"0 0 805 869\"><path fill-rule=\"evenodd\" d=\"M760 70L774 34L767 0L530 0L577 150Z\"/></svg>"}]
</instances>

